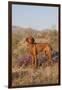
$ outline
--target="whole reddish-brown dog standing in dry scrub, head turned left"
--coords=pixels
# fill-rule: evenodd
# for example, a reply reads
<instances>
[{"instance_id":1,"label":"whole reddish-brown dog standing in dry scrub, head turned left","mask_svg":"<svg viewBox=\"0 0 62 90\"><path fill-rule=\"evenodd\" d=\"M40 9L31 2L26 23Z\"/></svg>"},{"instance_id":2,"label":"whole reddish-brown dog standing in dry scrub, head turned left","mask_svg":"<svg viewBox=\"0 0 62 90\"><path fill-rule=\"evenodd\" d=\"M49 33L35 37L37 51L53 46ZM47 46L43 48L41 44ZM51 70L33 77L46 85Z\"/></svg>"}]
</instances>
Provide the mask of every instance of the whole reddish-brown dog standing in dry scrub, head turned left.
<instances>
[{"instance_id":1,"label":"whole reddish-brown dog standing in dry scrub, head turned left","mask_svg":"<svg viewBox=\"0 0 62 90\"><path fill-rule=\"evenodd\" d=\"M39 52L44 52L48 56L48 61L51 62L51 46L48 43L35 43L32 36L26 38L27 47L29 48L30 54L32 56L32 66L37 67L37 54Z\"/></svg>"}]
</instances>

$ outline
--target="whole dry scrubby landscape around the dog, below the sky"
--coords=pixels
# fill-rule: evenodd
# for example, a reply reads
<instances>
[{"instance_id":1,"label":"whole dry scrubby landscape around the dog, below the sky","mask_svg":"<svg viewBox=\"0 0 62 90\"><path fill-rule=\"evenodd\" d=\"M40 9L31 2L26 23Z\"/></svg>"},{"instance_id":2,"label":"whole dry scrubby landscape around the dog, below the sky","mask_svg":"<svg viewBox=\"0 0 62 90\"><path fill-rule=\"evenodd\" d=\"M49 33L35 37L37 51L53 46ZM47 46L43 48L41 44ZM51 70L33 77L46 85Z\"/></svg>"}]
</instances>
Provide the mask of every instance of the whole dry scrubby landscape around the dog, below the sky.
<instances>
[{"instance_id":1,"label":"whole dry scrubby landscape around the dog, below the sky","mask_svg":"<svg viewBox=\"0 0 62 90\"><path fill-rule=\"evenodd\" d=\"M12 86L58 84L59 82L59 58L55 58L51 65L46 66L46 57L38 54L39 67L33 69L29 50L23 44L23 40L32 35L37 43L49 43L53 52L58 49L58 31L36 31L31 28L12 28ZM59 54L59 53L58 53ZM54 55L53 55L54 56ZM55 63L54 63L55 60ZM45 61L45 62L44 62ZM56 62L57 61L57 62Z\"/></svg>"}]
</instances>

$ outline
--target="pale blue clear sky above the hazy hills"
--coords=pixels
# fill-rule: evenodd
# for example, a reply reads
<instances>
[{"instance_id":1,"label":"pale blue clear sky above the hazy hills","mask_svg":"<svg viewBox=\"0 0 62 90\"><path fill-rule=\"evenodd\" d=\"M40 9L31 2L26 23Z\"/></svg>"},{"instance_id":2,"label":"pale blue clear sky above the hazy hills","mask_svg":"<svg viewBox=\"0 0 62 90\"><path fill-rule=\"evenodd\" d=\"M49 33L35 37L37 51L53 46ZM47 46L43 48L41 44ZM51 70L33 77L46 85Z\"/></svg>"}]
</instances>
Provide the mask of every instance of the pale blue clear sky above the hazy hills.
<instances>
[{"instance_id":1,"label":"pale blue clear sky above the hazy hills","mask_svg":"<svg viewBox=\"0 0 62 90\"><path fill-rule=\"evenodd\" d=\"M58 7L12 5L12 25L38 30L58 29Z\"/></svg>"}]
</instances>

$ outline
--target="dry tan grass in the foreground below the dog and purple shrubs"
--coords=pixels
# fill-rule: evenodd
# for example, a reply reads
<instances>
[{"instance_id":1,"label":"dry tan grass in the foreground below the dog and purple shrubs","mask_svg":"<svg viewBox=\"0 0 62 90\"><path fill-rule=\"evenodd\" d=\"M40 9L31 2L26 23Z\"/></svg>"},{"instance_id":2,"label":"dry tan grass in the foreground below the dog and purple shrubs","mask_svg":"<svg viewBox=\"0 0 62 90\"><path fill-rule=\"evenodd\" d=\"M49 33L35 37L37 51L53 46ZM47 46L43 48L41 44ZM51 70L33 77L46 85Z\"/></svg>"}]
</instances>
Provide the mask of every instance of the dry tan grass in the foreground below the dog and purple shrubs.
<instances>
[{"instance_id":1,"label":"dry tan grass in the foreground below the dog and purple shrubs","mask_svg":"<svg viewBox=\"0 0 62 90\"><path fill-rule=\"evenodd\" d=\"M13 69L12 86L58 84L58 76L58 63L40 66L37 69L22 66Z\"/></svg>"}]
</instances>

